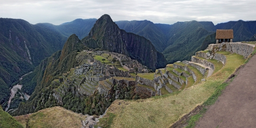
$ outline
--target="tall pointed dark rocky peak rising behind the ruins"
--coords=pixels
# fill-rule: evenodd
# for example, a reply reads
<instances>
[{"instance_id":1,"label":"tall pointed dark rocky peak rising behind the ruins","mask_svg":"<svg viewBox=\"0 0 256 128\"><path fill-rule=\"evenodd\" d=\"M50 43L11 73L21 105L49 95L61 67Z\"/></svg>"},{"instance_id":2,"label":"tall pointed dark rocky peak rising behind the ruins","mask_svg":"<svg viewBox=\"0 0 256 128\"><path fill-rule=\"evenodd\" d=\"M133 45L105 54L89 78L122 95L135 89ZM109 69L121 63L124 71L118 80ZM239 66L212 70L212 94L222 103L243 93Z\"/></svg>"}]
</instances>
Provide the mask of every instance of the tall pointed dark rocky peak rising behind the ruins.
<instances>
[{"instance_id":1,"label":"tall pointed dark rocky peak rising behind the ruins","mask_svg":"<svg viewBox=\"0 0 256 128\"><path fill-rule=\"evenodd\" d=\"M109 15L99 18L87 37L82 39L89 48L101 48L136 59L152 70L166 65L165 57L142 36L119 29Z\"/></svg>"}]
</instances>

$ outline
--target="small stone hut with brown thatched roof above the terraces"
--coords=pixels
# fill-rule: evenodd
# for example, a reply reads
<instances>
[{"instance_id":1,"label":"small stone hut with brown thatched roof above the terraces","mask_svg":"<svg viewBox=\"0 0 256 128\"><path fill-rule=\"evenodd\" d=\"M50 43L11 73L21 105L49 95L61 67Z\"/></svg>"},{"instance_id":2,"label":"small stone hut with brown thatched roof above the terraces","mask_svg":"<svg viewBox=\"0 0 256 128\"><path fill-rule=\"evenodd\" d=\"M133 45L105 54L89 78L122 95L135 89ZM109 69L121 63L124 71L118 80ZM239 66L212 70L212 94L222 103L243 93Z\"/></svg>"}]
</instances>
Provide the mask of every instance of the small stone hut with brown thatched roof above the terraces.
<instances>
[{"instance_id":1,"label":"small stone hut with brown thatched roof above the terraces","mask_svg":"<svg viewBox=\"0 0 256 128\"><path fill-rule=\"evenodd\" d=\"M233 38L233 30L217 29L216 31L216 44L222 42L232 42Z\"/></svg>"}]
</instances>

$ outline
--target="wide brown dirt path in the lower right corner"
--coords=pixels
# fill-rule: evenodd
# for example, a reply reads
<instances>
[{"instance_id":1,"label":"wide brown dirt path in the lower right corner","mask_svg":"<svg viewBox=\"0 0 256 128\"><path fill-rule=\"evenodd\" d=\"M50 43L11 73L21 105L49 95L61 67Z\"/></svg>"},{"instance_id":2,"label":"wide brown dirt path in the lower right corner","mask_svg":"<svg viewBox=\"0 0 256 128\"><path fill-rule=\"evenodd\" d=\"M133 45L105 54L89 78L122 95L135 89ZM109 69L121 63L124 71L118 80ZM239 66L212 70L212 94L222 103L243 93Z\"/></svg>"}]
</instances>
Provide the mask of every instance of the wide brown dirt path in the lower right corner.
<instances>
[{"instance_id":1,"label":"wide brown dirt path in the lower right corner","mask_svg":"<svg viewBox=\"0 0 256 128\"><path fill-rule=\"evenodd\" d=\"M255 128L256 56L196 123L196 128Z\"/></svg>"}]
</instances>

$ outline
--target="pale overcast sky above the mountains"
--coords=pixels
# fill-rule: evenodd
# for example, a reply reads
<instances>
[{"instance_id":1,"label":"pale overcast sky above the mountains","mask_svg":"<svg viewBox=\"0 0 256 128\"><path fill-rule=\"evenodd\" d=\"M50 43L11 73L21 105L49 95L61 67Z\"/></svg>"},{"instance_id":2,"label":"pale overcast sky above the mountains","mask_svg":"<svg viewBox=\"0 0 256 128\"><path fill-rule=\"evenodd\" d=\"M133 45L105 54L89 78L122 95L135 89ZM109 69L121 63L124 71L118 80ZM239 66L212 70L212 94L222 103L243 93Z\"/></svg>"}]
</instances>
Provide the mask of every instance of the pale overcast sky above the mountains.
<instances>
[{"instance_id":1,"label":"pale overcast sky above the mountains","mask_svg":"<svg viewBox=\"0 0 256 128\"><path fill-rule=\"evenodd\" d=\"M174 24L184 21L256 20L256 0L0 0L0 17L30 24L59 25L77 18L113 21L149 20Z\"/></svg>"}]
</instances>

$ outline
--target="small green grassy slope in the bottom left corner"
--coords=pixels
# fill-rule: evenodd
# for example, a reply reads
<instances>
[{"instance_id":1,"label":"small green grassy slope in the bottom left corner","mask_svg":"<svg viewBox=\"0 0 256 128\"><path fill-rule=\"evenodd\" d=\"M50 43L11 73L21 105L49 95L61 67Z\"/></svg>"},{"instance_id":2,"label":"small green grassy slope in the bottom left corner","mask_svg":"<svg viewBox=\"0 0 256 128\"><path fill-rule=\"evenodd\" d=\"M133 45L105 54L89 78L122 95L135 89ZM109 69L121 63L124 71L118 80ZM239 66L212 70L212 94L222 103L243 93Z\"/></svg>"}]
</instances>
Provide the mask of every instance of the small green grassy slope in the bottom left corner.
<instances>
[{"instance_id":1,"label":"small green grassy slope in the bottom left corner","mask_svg":"<svg viewBox=\"0 0 256 128\"><path fill-rule=\"evenodd\" d=\"M0 128L24 128L9 113L3 111L0 105Z\"/></svg>"}]
</instances>

